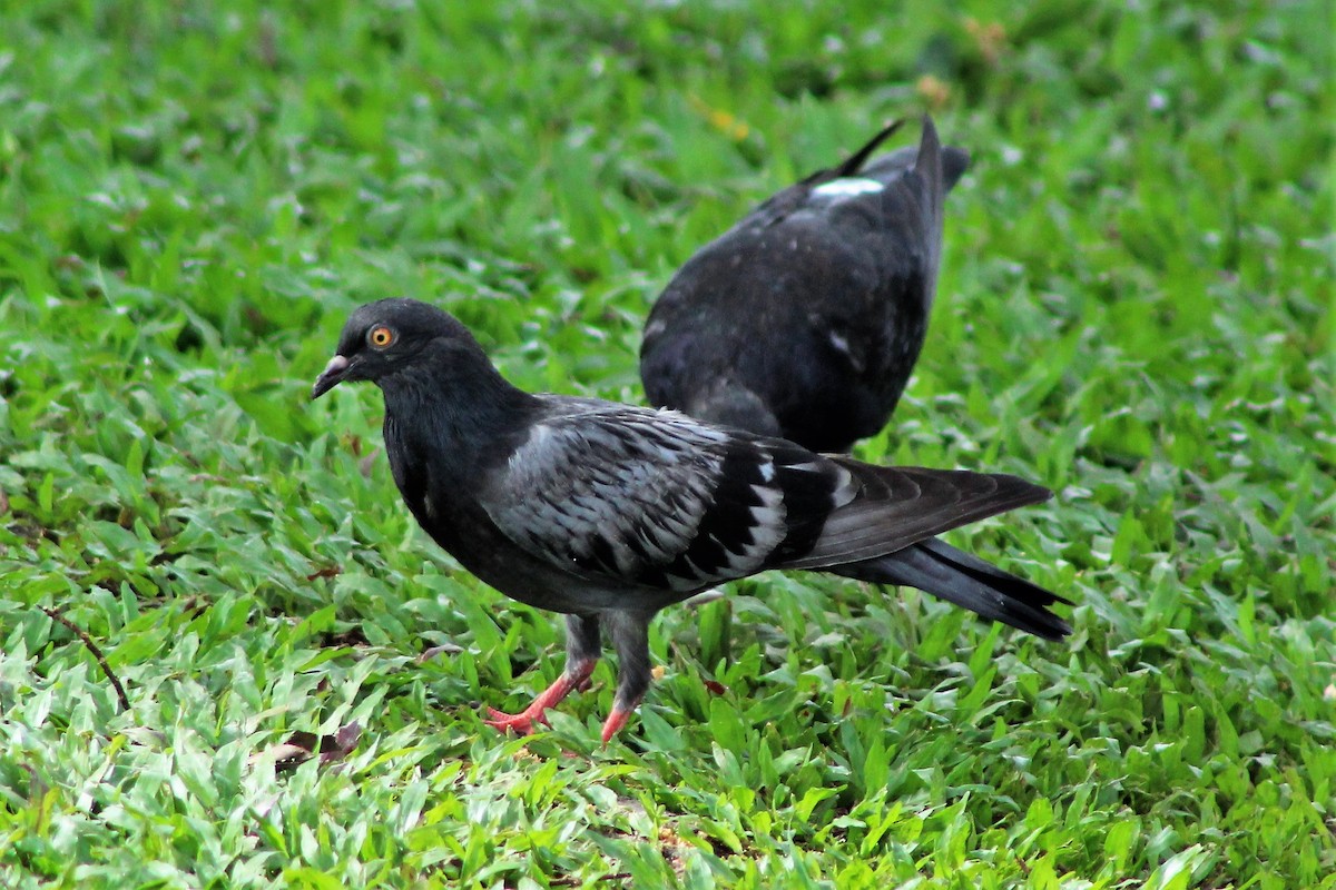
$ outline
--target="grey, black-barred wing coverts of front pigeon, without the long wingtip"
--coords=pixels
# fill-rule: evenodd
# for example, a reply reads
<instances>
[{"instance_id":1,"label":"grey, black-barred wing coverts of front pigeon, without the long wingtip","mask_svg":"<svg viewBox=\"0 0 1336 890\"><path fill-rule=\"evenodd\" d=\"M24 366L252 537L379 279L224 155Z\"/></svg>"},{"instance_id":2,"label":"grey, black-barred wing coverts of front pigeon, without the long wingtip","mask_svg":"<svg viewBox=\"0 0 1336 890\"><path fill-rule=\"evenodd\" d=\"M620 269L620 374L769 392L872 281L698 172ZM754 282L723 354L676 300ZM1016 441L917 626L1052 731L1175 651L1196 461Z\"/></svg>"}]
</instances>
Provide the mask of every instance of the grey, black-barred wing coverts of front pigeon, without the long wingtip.
<instances>
[{"instance_id":1,"label":"grey, black-barred wing coverts of front pigeon, without the long wingtip","mask_svg":"<svg viewBox=\"0 0 1336 890\"><path fill-rule=\"evenodd\" d=\"M815 540L820 523L790 511L823 516L847 475L673 411L585 406L534 423L481 503L517 546L601 583L687 594L760 571Z\"/></svg>"}]
</instances>

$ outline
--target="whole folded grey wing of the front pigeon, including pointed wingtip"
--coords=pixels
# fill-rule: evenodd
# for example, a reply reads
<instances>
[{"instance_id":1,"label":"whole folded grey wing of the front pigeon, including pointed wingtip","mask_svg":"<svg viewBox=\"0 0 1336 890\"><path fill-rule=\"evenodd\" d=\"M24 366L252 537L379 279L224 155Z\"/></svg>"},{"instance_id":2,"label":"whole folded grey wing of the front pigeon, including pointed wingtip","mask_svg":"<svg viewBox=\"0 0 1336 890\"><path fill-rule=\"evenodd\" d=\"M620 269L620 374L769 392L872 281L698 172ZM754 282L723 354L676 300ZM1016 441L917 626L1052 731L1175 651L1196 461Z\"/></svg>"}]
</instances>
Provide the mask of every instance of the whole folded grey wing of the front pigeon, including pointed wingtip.
<instances>
[{"instance_id":1,"label":"whole folded grey wing of the front pigeon, including pointed wingtip","mask_svg":"<svg viewBox=\"0 0 1336 890\"><path fill-rule=\"evenodd\" d=\"M607 403L549 414L484 487L497 528L599 583L704 590L874 559L1050 496L1002 474L874 467Z\"/></svg>"}]
</instances>

